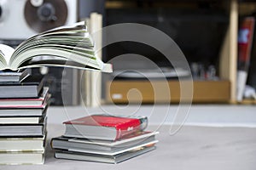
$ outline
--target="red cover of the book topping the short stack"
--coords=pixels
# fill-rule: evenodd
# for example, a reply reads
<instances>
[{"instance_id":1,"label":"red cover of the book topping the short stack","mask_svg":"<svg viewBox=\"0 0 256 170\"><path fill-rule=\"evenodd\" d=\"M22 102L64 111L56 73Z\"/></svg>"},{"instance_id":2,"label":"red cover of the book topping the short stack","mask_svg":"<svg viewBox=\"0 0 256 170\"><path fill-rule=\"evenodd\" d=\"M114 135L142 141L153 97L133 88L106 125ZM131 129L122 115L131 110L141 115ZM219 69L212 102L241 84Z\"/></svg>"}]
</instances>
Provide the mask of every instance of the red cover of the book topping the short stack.
<instances>
[{"instance_id":1,"label":"red cover of the book topping the short stack","mask_svg":"<svg viewBox=\"0 0 256 170\"><path fill-rule=\"evenodd\" d=\"M119 116L84 116L72 121L63 122L64 124L113 127L117 131L116 139L120 139L127 134L142 130L141 120L138 118L119 117Z\"/></svg>"}]
</instances>

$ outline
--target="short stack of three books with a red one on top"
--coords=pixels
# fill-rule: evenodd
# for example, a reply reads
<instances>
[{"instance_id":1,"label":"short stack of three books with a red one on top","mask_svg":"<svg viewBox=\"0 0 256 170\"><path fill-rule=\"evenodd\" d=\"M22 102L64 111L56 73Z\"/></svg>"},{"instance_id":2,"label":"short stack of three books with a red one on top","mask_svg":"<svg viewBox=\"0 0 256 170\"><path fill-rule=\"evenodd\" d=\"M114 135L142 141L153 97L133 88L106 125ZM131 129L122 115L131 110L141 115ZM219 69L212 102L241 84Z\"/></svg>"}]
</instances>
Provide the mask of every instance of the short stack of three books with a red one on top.
<instances>
[{"instance_id":1,"label":"short stack of three books with a red one on top","mask_svg":"<svg viewBox=\"0 0 256 170\"><path fill-rule=\"evenodd\" d=\"M119 163L155 149L157 132L145 131L147 124L147 117L84 116L64 122L51 147L56 158Z\"/></svg>"}]
</instances>

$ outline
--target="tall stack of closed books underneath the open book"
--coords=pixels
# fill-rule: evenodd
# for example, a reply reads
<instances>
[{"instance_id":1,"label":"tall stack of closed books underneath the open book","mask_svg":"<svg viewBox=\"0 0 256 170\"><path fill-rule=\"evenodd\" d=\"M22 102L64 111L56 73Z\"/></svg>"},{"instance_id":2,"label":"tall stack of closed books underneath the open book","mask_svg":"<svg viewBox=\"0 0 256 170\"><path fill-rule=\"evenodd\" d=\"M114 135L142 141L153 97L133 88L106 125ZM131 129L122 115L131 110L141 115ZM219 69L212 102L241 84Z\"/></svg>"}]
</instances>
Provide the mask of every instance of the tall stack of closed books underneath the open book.
<instances>
[{"instance_id":1,"label":"tall stack of closed books underneath the open book","mask_svg":"<svg viewBox=\"0 0 256 170\"><path fill-rule=\"evenodd\" d=\"M49 88L28 71L0 72L0 164L42 164Z\"/></svg>"}]
</instances>

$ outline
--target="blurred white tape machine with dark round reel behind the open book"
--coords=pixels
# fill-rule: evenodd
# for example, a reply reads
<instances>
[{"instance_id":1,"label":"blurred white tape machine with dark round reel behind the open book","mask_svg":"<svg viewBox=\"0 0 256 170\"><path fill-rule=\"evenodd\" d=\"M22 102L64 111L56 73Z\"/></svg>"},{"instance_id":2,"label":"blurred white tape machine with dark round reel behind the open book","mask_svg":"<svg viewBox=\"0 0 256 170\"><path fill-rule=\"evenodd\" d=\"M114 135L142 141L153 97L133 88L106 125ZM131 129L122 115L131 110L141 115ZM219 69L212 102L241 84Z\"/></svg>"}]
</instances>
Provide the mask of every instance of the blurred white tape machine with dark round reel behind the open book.
<instances>
[{"instance_id":1,"label":"blurred white tape machine with dark round reel behind the open book","mask_svg":"<svg viewBox=\"0 0 256 170\"><path fill-rule=\"evenodd\" d=\"M24 40L78 20L76 0L1 0L0 39Z\"/></svg>"}]
</instances>

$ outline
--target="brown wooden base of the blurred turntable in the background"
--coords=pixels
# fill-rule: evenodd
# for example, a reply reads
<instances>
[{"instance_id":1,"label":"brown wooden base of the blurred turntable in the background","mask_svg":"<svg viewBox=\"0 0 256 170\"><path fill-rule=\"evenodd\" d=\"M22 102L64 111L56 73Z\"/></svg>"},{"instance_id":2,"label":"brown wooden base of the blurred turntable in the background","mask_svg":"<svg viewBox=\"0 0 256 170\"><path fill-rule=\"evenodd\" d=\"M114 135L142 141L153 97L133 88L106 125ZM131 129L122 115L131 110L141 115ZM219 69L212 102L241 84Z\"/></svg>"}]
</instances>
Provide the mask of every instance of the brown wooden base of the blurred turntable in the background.
<instances>
[{"instance_id":1,"label":"brown wooden base of the blurred turntable in the background","mask_svg":"<svg viewBox=\"0 0 256 170\"><path fill-rule=\"evenodd\" d=\"M194 81L193 96L185 96L183 103L229 103L230 81ZM179 103L181 88L178 81L128 80L107 83L108 103ZM183 92L186 93L186 92Z\"/></svg>"}]
</instances>

